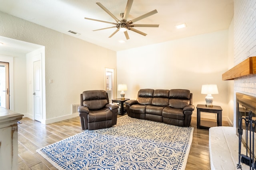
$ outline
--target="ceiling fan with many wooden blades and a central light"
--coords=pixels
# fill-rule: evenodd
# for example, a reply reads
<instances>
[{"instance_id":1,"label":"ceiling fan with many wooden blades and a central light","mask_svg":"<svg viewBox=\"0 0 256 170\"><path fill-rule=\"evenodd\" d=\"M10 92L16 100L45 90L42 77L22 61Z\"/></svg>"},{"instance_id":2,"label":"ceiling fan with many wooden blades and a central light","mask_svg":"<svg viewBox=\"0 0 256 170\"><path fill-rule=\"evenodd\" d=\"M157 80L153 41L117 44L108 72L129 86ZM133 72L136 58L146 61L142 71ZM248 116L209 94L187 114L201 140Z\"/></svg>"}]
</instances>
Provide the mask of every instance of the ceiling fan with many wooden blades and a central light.
<instances>
[{"instance_id":1,"label":"ceiling fan with many wooden blades and a central light","mask_svg":"<svg viewBox=\"0 0 256 170\"><path fill-rule=\"evenodd\" d=\"M108 22L108 21L102 21L102 20L96 20L96 19L92 19L92 18L84 18L86 20L92 20L92 21L99 21L99 22L104 22L104 23L110 23L113 24L115 26L112 27L106 27L106 28L101 28L101 29L95 29L93 31L99 31L99 30L103 30L103 29L110 29L110 28L117 28L116 31L114 31L114 33L112 33L110 37L112 37L114 34L116 34L118 31L122 31L124 32L124 35L126 37L126 39L130 39L127 30L131 30L134 31L136 33L139 33L141 35L146 36L147 34L139 31L138 29L134 29L134 27L159 27L159 24L134 24L134 22L142 20L144 18L147 18L149 16L152 16L154 14L157 13L157 10L153 10L151 12L148 12L142 16L139 16L137 18L134 18L133 20L127 21L131 7L132 7L132 2L133 0L128 0L127 4L126 4L126 8L124 13L121 13L120 16L122 17L122 20L118 20L118 18L116 18L107 8L105 8L100 2L96 2L96 4L98 6L100 6L100 8L102 8L106 13L108 13L108 15L110 15L112 18L114 18L114 20L116 20L116 23L114 22Z\"/></svg>"}]
</instances>

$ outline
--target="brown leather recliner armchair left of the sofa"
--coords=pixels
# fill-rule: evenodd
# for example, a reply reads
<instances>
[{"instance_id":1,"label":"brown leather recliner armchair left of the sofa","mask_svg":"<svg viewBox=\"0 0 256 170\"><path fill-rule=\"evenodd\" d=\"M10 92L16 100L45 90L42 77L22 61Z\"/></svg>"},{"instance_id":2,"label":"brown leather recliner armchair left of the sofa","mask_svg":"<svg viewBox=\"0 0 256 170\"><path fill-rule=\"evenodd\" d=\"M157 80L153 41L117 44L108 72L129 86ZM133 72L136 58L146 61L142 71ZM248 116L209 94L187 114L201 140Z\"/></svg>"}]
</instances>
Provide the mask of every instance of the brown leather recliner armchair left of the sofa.
<instances>
[{"instance_id":1,"label":"brown leather recliner armchair left of the sofa","mask_svg":"<svg viewBox=\"0 0 256 170\"><path fill-rule=\"evenodd\" d=\"M88 90L80 94L78 107L82 129L104 129L116 125L118 105L110 104L104 90Z\"/></svg>"}]
</instances>

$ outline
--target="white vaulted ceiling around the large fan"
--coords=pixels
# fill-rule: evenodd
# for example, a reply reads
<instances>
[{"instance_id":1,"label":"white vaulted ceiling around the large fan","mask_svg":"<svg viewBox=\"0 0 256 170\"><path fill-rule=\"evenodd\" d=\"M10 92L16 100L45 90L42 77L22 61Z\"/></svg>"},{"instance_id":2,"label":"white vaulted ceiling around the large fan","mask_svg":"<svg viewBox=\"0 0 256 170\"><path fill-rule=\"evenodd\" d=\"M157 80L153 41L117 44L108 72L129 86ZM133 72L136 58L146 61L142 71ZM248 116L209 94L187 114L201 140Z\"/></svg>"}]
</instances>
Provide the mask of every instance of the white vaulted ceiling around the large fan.
<instances>
[{"instance_id":1,"label":"white vaulted ceiling around the large fan","mask_svg":"<svg viewBox=\"0 0 256 170\"><path fill-rule=\"evenodd\" d=\"M116 22L96 2L121 20L120 13L124 12L127 0L0 0L0 11L114 51L228 29L234 14L234 0L134 0L128 20L156 9L157 14L136 24L160 25L136 27L146 36L128 30L130 39L126 40L121 31L108 38L116 28L92 31L114 25L84 17ZM176 29L175 25L180 23L186 23L187 27Z\"/></svg>"}]
</instances>

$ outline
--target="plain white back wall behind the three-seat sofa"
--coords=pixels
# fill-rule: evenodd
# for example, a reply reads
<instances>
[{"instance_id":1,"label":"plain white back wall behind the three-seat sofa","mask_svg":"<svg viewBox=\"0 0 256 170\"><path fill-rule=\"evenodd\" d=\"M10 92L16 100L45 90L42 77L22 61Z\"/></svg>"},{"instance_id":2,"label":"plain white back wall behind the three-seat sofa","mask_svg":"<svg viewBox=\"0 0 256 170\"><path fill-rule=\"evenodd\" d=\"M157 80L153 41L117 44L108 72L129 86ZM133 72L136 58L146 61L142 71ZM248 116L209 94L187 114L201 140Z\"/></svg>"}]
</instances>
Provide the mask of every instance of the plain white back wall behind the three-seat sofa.
<instances>
[{"instance_id":1,"label":"plain white back wall behind the three-seat sofa","mask_svg":"<svg viewBox=\"0 0 256 170\"><path fill-rule=\"evenodd\" d=\"M136 99L141 88L189 89L195 107L205 104L202 84L217 84L219 94L213 95L213 104L222 107L227 120L228 82L222 81L227 63L228 30L224 30L119 51L117 83L127 84L126 98L131 99Z\"/></svg>"}]
</instances>

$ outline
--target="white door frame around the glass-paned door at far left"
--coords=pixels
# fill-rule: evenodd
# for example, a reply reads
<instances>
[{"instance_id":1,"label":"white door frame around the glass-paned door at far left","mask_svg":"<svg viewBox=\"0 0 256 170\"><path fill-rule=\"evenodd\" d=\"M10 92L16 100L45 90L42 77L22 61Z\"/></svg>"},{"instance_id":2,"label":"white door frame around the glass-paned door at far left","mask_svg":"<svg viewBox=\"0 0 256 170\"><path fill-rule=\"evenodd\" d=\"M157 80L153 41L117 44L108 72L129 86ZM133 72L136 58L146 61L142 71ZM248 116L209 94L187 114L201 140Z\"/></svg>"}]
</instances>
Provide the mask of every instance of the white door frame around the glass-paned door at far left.
<instances>
[{"instance_id":1,"label":"white door frame around the glass-paned door at far left","mask_svg":"<svg viewBox=\"0 0 256 170\"><path fill-rule=\"evenodd\" d=\"M14 72L13 72L13 57L0 55L0 61L9 63L9 106L10 110L14 111Z\"/></svg>"}]
</instances>

